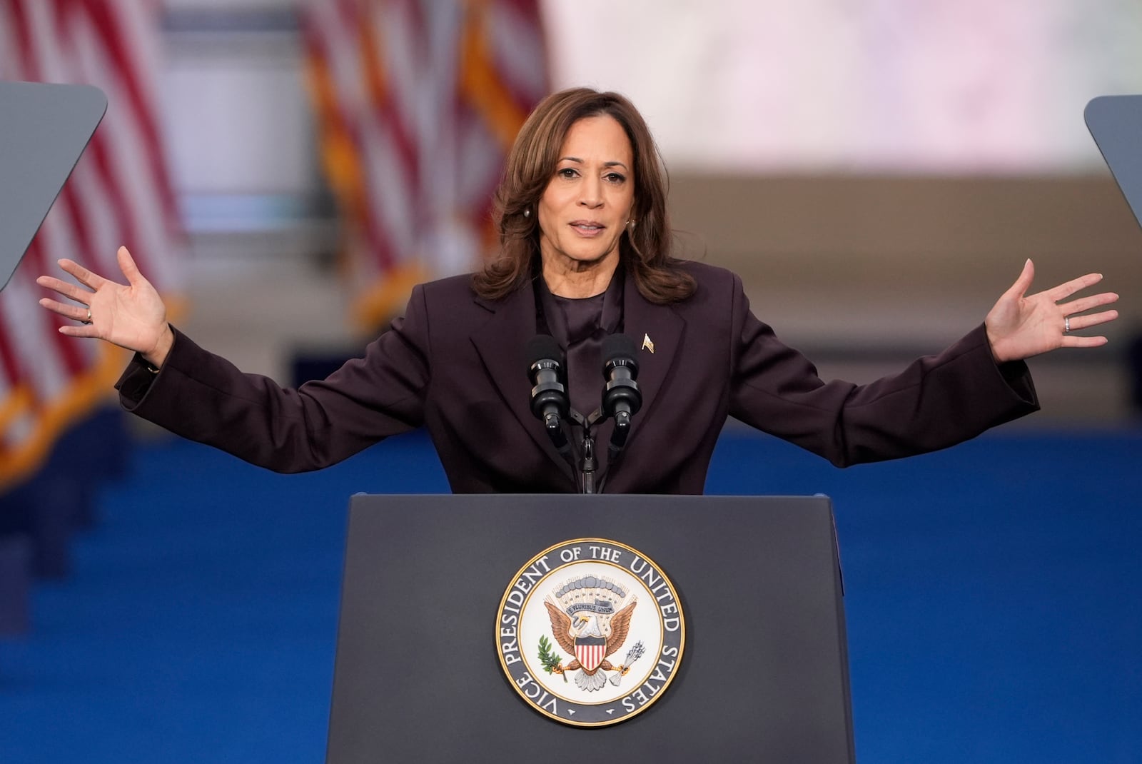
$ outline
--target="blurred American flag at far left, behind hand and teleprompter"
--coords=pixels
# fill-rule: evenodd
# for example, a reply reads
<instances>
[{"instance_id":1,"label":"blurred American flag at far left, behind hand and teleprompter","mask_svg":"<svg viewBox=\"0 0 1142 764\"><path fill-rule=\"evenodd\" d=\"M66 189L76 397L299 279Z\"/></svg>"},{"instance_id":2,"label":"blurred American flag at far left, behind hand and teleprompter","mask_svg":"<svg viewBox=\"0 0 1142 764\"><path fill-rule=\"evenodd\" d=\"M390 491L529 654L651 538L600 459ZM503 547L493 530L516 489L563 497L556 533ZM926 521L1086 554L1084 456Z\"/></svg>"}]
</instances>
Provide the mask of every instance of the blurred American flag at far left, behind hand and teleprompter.
<instances>
[{"instance_id":1,"label":"blurred American flag at far left, behind hand and teleprompter","mask_svg":"<svg viewBox=\"0 0 1142 764\"><path fill-rule=\"evenodd\" d=\"M94 85L107 113L0 292L0 489L29 475L69 421L108 394L122 357L56 331L41 273L61 257L114 276L127 244L140 270L179 289L182 225L158 116L159 3L0 0L0 78Z\"/></svg>"}]
</instances>

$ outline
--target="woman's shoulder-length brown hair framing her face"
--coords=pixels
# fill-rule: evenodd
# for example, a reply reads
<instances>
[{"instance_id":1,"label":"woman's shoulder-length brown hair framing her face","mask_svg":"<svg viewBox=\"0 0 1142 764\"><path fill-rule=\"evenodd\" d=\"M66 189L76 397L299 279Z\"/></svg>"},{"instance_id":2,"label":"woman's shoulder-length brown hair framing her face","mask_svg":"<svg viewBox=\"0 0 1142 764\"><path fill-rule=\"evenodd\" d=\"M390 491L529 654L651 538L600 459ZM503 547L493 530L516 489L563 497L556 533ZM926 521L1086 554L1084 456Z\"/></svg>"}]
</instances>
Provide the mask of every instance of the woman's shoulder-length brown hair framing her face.
<instances>
[{"instance_id":1,"label":"woman's shoulder-length brown hair framing her face","mask_svg":"<svg viewBox=\"0 0 1142 764\"><path fill-rule=\"evenodd\" d=\"M667 176L642 114L617 93L571 88L544 98L520 129L496 191L494 220L500 254L473 276L481 297L499 299L532 278L539 257L539 200L555 175L560 148L571 126L606 114L626 130L634 151L634 225L619 239L619 263L651 303L668 305L690 297L693 278L670 255L666 212ZM524 215L531 210L531 215Z\"/></svg>"}]
</instances>

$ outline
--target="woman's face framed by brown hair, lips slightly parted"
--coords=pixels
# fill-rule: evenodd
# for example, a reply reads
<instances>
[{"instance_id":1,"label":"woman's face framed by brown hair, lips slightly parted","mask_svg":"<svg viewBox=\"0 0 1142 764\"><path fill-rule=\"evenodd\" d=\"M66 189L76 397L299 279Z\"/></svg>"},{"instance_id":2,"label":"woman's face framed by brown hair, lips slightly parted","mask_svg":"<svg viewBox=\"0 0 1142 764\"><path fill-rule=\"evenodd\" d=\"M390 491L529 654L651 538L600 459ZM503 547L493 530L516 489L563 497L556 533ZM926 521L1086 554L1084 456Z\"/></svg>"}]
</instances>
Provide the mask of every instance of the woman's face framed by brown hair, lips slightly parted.
<instances>
[{"instance_id":1,"label":"woman's face framed by brown hair, lips slightly parted","mask_svg":"<svg viewBox=\"0 0 1142 764\"><path fill-rule=\"evenodd\" d=\"M606 114L572 124L539 200L545 268L617 264L634 196L634 151L622 126Z\"/></svg>"}]
</instances>

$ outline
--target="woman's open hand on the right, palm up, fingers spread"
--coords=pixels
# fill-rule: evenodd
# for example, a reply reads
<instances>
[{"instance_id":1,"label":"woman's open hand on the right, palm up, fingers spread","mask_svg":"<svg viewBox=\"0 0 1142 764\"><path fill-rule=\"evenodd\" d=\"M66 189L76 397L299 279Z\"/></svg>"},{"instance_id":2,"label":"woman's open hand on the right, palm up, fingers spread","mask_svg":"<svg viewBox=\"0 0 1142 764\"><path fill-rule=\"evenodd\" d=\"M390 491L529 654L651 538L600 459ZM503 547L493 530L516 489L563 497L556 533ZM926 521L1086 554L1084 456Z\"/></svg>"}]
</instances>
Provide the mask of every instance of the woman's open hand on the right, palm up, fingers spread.
<instances>
[{"instance_id":1,"label":"woman's open hand on the right, palm up, fingers spread","mask_svg":"<svg viewBox=\"0 0 1142 764\"><path fill-rule=\"evenodd\" d=\"M1054 289L1026 297L1034 278L1035 264L1028 260L1019 279L1003 293L983 321L988 341L991 343L991 354L997 362L1029 359L1056 347L1097 347L1107 344L1105 337L1079 337L1070 332L1117 319L1118 311L1076 314L1110 305L1118 299L1118 295L1103 292L1060 304L1075 292L1102 281L1101 273L1088 273Z\"/></svg>"}]
</instances>

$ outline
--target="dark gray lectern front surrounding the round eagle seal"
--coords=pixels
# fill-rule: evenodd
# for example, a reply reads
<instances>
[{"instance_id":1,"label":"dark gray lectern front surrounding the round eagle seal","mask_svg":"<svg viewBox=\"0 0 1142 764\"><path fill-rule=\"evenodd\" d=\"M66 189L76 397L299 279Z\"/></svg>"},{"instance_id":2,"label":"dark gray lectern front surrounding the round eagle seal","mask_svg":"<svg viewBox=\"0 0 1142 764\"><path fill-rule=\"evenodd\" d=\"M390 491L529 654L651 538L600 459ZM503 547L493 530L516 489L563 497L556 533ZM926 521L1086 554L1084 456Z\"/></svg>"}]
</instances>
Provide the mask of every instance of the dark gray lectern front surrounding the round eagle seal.
<instances>
[{"instance_id":1,"label":"dark gray lectern front surrounding the round eagle seal","mask_svg":"<svg viewBox=\"0 0 1142 764\"><path fill-rule=\"evenodd\" d=\"M516 694L494 627L529 560L574 538L653 560L685 651L645 713L560 724ZM829 500L357 496L327 762L853 762Z\"/></svg>"}]
</instances>

